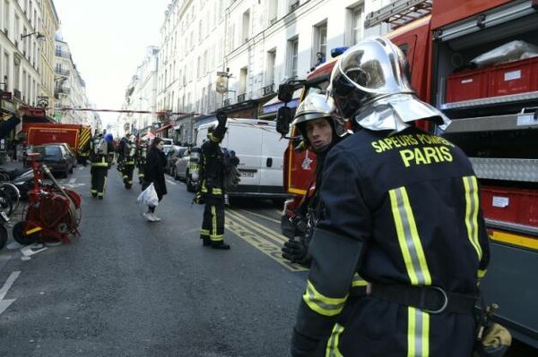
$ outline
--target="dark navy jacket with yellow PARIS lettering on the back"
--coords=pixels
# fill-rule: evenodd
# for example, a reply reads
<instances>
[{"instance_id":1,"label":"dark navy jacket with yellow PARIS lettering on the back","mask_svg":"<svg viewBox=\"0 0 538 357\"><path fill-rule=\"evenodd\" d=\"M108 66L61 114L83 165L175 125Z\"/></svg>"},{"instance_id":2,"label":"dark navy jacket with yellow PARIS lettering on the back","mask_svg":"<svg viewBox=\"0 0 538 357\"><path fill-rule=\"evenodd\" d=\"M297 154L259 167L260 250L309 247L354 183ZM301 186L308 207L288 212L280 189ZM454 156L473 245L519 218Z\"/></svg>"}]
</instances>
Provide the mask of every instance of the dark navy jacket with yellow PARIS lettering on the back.
<instances>
[{"instance_id":1,"label":"dark navy jacket with yellow PARIS lettering on the back","mask_svg":"<svg viewBox=\"0 0 538 357\"><path fill-rule=\"evenodd\" d=\"M447 140L416 128L392 136L360 130L327 155L320 198L324 217L310 245L313 262L293 355L312 355L300 353L301 341L329 335L355 273L374 284L476 293L490 259L489 238L473 167ZM401 309L395 316L406 316L406 308ZM359 319L354 326L383 326L380 316L378 321ZM435 324L446 316L437 315ZM434 348L439 345L432 342Z\"/></svg>"}]
</instances>

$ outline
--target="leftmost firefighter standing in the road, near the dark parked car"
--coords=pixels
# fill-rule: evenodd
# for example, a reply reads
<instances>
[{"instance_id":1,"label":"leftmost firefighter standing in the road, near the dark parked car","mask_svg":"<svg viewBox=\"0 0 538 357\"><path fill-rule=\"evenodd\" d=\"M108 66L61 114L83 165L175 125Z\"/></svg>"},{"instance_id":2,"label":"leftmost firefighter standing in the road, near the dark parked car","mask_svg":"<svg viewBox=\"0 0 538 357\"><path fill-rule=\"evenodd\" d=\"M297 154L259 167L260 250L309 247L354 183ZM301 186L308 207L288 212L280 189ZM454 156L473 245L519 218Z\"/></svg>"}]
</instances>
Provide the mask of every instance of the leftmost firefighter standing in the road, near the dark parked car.
<instances>
[{"instance_id":1,"label":"leftmost firefighter standing in the road, near the dark parked car","mask_svg":"<svg viewBox=\"0 0 538 357\"><path fill-rule=\"evenodd\" d=\"M91 196L102 200L107 187L108 168L114 159L114 145L103 137L102 132L96 130L91 138Z\"/></svg>"}]
</instances>

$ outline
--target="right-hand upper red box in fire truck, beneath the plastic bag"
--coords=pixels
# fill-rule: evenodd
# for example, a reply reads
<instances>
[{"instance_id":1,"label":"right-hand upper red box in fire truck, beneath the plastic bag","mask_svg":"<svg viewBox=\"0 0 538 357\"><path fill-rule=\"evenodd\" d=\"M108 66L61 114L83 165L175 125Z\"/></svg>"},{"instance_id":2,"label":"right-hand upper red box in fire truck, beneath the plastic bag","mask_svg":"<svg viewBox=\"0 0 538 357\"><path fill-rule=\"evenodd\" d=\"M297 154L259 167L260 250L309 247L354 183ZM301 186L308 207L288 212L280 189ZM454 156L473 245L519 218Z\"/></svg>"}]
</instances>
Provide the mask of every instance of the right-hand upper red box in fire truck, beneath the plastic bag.
<instances>
[{"instance_id":1,"label":"right-hand upper red box in fire truck, beneath the plastic bag","mask_svg":"<svg viewBox=\"0 0 538 357\"><path fill-rule=\"evenodd\" d=\"M488 97L538 90L538 57L488 67Z\"/></svg>"}]
</instances>

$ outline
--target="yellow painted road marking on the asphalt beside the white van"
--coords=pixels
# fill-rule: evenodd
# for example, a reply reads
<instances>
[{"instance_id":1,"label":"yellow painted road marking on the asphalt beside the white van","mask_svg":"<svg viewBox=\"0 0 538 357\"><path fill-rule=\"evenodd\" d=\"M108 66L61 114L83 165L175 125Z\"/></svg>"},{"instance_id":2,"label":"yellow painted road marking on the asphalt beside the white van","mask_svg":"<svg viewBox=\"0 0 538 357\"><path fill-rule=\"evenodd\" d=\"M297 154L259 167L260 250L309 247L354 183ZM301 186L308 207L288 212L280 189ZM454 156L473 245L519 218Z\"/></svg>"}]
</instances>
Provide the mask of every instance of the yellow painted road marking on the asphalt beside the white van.
<instances>
[{"instance_id":1,"label":"yellow painted road marking on the asphalt beside the white van","mask_svg":"<svg viewBox=\"0 0 538 357\"><path fill-rule=\"evenodd\" d=\"M227 210L229 213L226 219L226 228L236 234L245 242L254 246L258 251L262 251L266 256L275 260L291 271L305 271L307 268L292 264L290 261L282 258L282 242L286 238L282 234L276 234L274 231L259 225L251 219L240 215L238 212Z\"/></svg>"}]
</instances>

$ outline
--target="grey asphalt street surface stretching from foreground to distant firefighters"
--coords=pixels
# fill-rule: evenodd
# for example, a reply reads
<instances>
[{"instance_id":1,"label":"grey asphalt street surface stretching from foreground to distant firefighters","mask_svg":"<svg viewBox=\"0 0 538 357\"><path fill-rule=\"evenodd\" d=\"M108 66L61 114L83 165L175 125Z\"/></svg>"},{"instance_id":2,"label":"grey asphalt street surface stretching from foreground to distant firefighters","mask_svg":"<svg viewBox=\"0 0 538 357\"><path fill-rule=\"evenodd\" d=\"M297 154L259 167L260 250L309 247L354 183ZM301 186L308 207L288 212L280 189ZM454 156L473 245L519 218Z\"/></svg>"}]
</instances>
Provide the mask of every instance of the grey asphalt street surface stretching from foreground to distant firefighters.
<instances>
[{"instance_id":1,"label":"grey asphalt street surface stretching from foreground to distant firefighters","mask_svg":"<svg viewBox=\"0 0 538 357\"><path fill-rule=\"evenodd\" d=\"M0 251L1 356L288 355L306 273L276 257L275 206L234 208L232 249L215 251L198 239L203 206L183 183L168 178L162 221L148 223L139 185L127 191L112 168L97 200L89 181L89 168L63 180L82 194L81 237Z\"/></svg>"}]
</instances>

